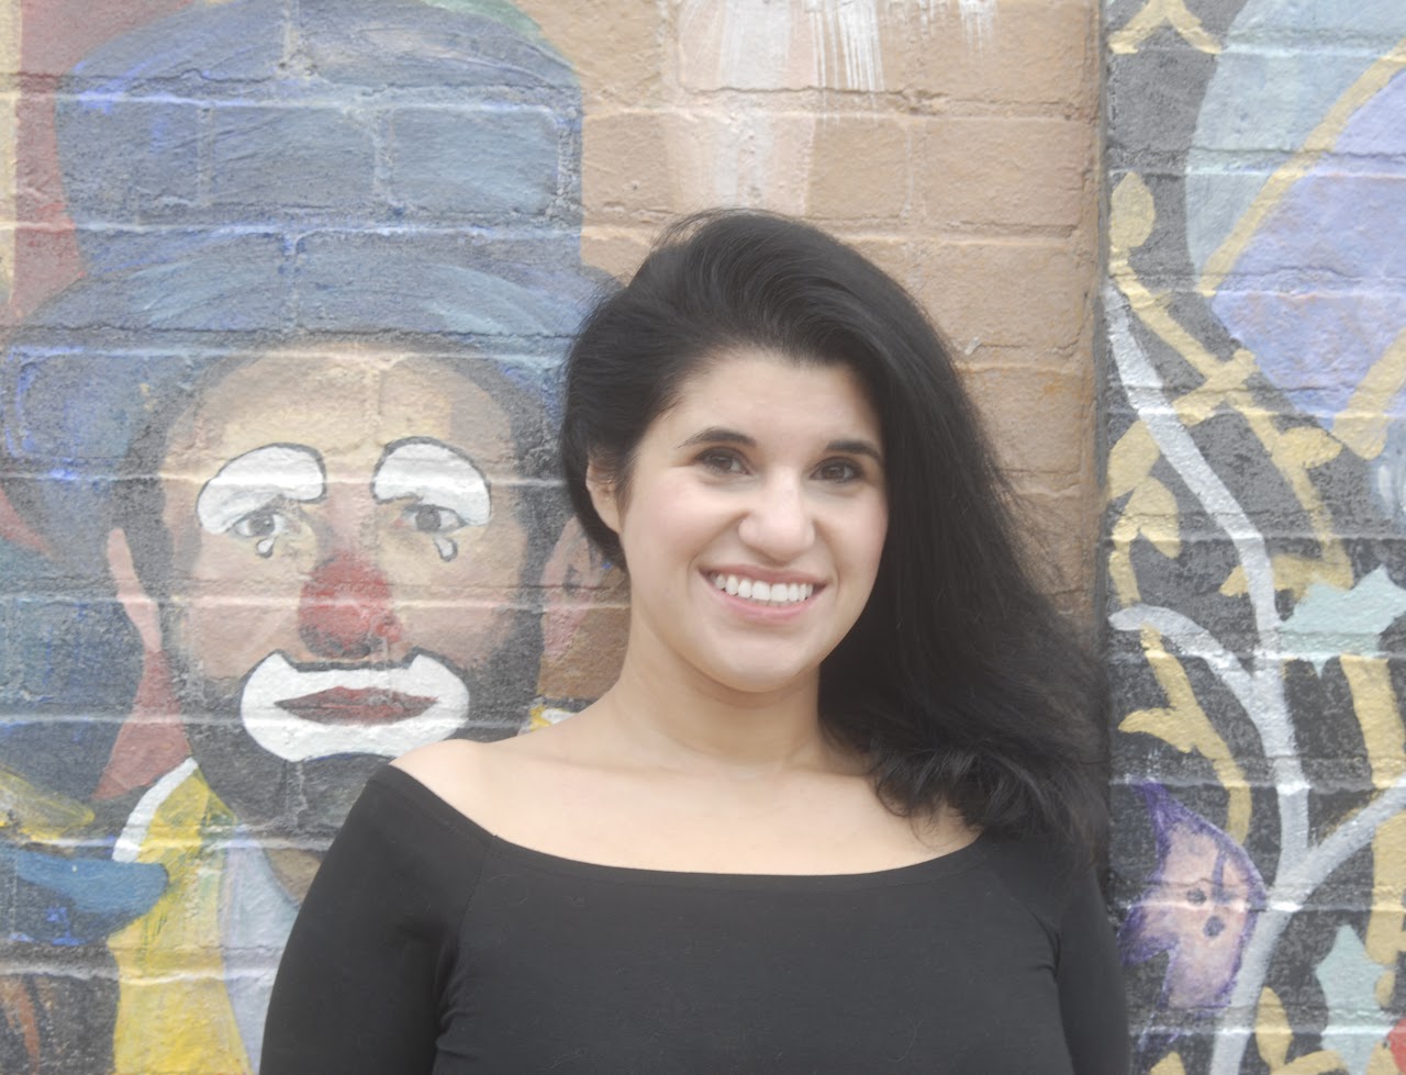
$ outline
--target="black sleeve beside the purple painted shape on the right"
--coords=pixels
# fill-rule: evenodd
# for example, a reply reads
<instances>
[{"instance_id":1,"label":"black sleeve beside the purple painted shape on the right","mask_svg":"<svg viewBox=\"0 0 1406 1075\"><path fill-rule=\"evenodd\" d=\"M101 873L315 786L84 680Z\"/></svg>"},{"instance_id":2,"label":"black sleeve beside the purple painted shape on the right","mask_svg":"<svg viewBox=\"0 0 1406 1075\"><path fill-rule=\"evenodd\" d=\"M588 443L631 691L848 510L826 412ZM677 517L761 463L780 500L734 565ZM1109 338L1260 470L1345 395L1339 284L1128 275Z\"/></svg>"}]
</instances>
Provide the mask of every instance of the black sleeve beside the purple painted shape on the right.
<instances>
[{"instance_id":1,"label":"black sleeve beside the purple painted shape on the right","mask_svg":"<svg viewBox=\"0 0 1406 1075\"><path fill-rule=\"evenodd\" d=\"M1059 1002L1077 1075L1128 1075L1128 999L1118 944L1092 871L1076 884L1059 927Z\"/></svg>"}]
</instances>

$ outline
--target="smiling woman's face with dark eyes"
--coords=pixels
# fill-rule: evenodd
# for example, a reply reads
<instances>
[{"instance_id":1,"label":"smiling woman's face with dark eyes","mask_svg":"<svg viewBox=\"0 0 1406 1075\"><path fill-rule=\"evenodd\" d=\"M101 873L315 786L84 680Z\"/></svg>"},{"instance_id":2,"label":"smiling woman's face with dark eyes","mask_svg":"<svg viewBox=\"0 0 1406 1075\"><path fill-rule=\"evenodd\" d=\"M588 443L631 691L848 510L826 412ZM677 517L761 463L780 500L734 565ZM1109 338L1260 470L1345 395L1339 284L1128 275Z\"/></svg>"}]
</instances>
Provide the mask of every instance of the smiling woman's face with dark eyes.
<instances>
[{"instance_id":1,"label":"smiling woman's face with dark eyes","mask_svg":"<svg viewBox=\"0 0 1406 1075\"><path fill-rule=\"evenodd\" d=\"M641 438L624 503L591 482L630 565L627 660L704 689L813 687L879 571L882 444L848 367L706 361Z\"/></svg>"}]
</instances>

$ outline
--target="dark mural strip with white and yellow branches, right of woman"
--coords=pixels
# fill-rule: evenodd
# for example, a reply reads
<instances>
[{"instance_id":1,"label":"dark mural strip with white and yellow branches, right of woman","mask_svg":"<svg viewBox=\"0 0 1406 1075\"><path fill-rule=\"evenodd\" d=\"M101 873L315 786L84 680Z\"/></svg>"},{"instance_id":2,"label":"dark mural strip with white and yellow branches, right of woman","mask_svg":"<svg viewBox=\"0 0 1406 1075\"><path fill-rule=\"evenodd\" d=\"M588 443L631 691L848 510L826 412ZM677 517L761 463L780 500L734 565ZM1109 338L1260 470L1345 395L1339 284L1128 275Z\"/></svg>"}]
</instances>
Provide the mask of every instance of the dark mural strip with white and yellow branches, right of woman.
<instances>
[{"instance_id":1,"label":"dark mural strip with white and yellow branches, right of woman","mask_svg":"<svg viewBox=\"0 0 1406 1075\"><path fill-rule=\"evenodd\" d=\"M1406 1071L1406 8L1107 20L1139 1071Z\"/></svg>"}]
</instances>

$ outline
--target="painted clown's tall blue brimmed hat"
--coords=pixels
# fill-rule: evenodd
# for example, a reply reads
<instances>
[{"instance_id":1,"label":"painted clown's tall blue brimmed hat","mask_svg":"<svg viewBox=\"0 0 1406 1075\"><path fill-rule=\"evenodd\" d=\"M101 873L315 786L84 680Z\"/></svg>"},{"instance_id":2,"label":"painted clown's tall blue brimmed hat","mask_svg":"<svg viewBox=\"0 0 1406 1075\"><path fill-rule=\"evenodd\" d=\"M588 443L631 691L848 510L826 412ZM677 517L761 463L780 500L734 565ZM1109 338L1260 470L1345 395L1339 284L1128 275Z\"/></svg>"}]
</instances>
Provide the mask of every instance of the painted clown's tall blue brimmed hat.
<instances>
[{"instance_id":1,"label":"painted clown's tall blue brimmed hat","mask_svg":"<svg viewBox=\"0 0 1406 1075\"><path fill-rule=\"evenodd\" d=\"M501 0L191 7L65 90L87 277L10 341L6 450L90 559L132 437L214 357L429 334L546 402L606 285L579 261L579 89Z\"/></svg>"}]
</instances>

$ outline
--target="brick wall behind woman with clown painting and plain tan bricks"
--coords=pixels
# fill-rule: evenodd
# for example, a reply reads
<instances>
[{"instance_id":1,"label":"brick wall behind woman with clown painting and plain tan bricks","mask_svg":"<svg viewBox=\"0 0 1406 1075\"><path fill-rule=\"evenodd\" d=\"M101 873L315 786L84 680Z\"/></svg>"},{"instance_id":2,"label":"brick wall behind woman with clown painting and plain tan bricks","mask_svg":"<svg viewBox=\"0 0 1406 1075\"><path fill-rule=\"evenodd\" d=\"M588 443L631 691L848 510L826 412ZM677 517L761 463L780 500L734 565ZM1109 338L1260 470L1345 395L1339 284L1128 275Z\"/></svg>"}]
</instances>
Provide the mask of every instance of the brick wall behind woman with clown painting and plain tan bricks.
<instances>
[{"instance_id":1,"label":"brick wall behind woman with clown painting and plain tan bricks","mask_svg":"<svg viewBox=\"0 0 1406 1075\"><path fill-rule=\"evenodd\" d=\"M0 3L0 1069L247 1071L366 773L605 689L623 593L553 485L551 374L682 211L800 214L905 281L1090 617L1097 31Z\"/></svg>"}]
</instances>

